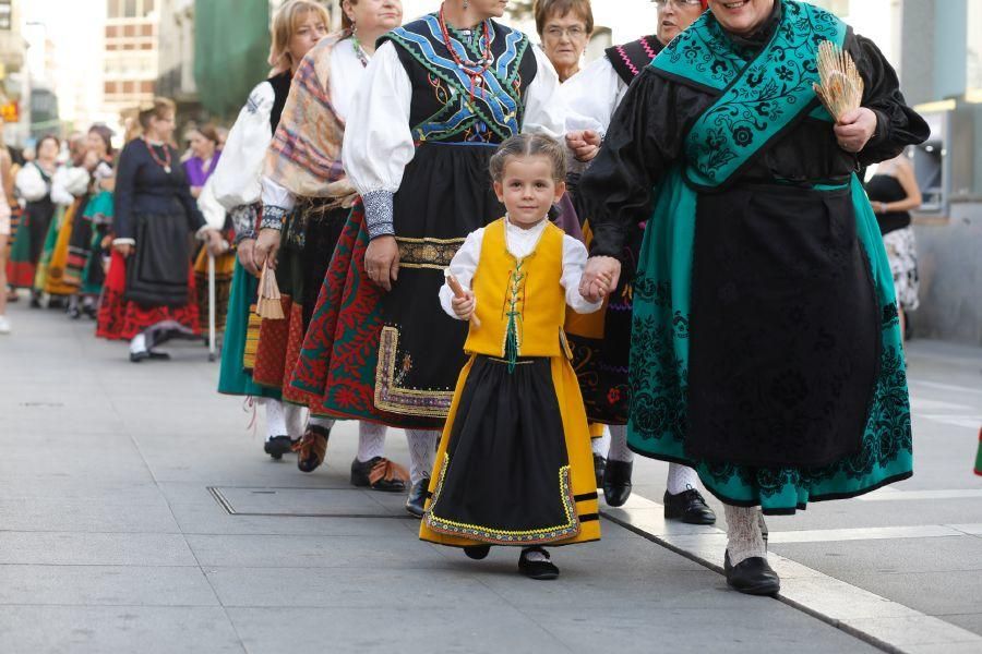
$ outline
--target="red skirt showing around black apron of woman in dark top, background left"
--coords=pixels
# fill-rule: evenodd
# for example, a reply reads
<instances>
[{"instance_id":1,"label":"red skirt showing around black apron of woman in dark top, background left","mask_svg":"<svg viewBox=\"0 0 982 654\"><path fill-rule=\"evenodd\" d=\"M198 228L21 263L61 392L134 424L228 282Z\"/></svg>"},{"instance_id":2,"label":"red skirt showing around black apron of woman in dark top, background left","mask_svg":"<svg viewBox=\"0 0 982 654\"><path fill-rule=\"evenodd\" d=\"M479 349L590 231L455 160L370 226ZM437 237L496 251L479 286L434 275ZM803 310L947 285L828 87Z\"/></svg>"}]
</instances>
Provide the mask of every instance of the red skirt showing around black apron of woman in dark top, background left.
<instances>
[{"instance_id":1,"label":"red skirt showing around black apron of woman in dark top, background left","mask_svg":"<svg viewBox=\"0 0 982 654\"><path fill-rule=\"evenodd\" d=\"M103 300L99 303L96 336L110 340L129 340L153 325L164 320L176 320L201 334L197 311L197 291L194 286L194 270L188 263L188 304L184 306L146 306L123 298L127 290L127 259L118 252L112 253Z\"/></svg>"}]
</instances>

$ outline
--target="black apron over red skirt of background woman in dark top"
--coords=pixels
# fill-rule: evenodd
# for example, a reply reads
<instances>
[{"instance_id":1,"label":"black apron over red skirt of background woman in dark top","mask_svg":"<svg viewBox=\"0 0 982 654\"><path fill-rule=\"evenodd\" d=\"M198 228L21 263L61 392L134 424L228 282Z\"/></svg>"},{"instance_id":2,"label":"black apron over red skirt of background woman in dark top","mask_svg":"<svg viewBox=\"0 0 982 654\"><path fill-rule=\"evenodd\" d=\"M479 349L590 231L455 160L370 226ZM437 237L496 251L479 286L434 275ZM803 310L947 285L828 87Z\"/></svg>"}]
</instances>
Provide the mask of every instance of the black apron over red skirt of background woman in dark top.
<instances>
[{"instance_id":1,"label":"black apron over red skirt of background woman in dark top","mask_svg":"<svg viewBox=\"0 0 982 654\"><path fill-rule=\"evenodd\" d=\"M125 300L143 306L188 304L191 239L183 213L136 214L136 247L127 266Z\"/></svg>"}]
</instances>

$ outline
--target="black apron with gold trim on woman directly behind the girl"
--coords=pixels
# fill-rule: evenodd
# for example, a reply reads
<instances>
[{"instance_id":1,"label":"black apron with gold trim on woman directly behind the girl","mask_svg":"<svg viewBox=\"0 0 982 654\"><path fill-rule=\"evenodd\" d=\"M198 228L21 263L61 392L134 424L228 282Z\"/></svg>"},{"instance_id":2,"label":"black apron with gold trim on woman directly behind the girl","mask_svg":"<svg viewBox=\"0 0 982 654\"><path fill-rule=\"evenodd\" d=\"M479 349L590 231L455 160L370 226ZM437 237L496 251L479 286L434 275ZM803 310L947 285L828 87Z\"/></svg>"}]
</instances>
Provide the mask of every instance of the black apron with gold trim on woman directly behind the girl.
<instances>
[{"instance_id":1,"label":"black apron with gold trim on woman directly behind the girl","mask_svg":"<svg viewBox=\"0 0 982 654\"><path fill-rule=\"evenodd\" d=\"M382 300L375 404L404 415L445 417L466 363L467 325L438 300L443 270L467 234L504 216L488 172L494 147L426 143L395 196L399 276Z\"/></svg>"}]
</instances>

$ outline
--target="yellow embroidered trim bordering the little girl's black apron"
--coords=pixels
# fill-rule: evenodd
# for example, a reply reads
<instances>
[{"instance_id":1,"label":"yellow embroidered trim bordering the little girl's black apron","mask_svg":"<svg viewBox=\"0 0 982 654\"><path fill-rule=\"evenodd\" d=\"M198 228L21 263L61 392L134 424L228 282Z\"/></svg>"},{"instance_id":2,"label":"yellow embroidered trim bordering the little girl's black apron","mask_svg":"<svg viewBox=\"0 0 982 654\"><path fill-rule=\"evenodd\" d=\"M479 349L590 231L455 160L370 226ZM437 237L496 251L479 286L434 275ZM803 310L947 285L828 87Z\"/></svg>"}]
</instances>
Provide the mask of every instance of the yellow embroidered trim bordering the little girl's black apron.
<instances>
[{"instance_id":1,"label":"yellow embroidered trim bordering the little girl's black apron","mask_svg":"<svg viewBox=\"0 0 982 654\"><path fill-rule=\"evenodd\" d=\"M579 533L579 517L576 513L576 505L573 500L573 491L570 484L570 467L563 465L559 470L560 495L563 504L563 511L566 514L566 523L556 526L547 526L526 531L508 531L483 526L479 524L467 524L463 522L454 522L435 516L433 509L440 502L440 495L443 492L443 484L446 480L446 470L450 468L450 455L443 453L443 467L440 470L440 480L436 484L436 492L427 512L423 514L423 521L432 531L450 536L458 536L475 541L484 541L501 543L503 545L511 544L536 544L562 541Z\"/></svg>"}]
</instances>

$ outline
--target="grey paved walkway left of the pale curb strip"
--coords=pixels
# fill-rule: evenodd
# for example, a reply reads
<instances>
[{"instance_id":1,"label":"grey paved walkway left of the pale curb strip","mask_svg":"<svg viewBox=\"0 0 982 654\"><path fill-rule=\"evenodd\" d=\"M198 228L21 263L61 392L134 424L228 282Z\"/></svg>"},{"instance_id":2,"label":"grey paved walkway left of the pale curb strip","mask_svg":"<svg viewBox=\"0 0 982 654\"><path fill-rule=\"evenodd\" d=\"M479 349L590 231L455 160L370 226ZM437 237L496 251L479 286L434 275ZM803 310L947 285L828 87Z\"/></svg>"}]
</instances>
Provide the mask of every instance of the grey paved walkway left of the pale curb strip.
<instances>
[{"instance_id":1,"label":"grey paved walkway left of the pale curb strip","mask_svg":"<svg viewBox=\"0 0 982 654\"><path fill-rule=\"evenodd\" d=\"M352 425L303 475L261 452L203 348L133 365L91 323L9 313L4 653L875 651L606 520L554 550L555 582L421 543L402 497L348 486ZM388 450L407 460L402 433Z\"/></svg>"}]
</instances>

